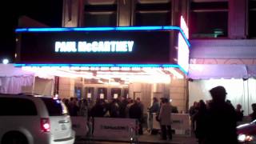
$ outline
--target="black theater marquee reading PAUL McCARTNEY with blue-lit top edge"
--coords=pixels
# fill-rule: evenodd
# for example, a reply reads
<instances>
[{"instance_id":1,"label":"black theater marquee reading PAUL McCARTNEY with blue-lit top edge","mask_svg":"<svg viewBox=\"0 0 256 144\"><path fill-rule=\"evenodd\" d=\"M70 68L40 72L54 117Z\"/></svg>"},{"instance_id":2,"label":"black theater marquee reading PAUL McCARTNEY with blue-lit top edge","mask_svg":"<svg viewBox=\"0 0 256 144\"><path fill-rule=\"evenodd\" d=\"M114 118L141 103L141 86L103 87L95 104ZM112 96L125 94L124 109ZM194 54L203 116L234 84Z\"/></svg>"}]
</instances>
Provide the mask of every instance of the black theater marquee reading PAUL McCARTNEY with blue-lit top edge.
<instances>
[{"instance_id":1,"label":"black theater marquee reading PAUL McCARTNEY with blue-lit top edge","mask_svg":"<svg viewBox=\"0 0 256 144\"><path fill-rule=\"evenodd\" d=\"M178 65L178 55L184 57L176 47L190 46L178 26L25 28L16 33L19 64Z\"/></svg>"}]
</instances>

